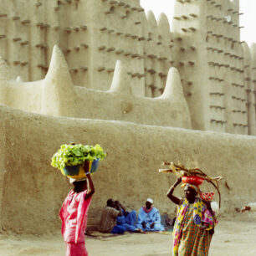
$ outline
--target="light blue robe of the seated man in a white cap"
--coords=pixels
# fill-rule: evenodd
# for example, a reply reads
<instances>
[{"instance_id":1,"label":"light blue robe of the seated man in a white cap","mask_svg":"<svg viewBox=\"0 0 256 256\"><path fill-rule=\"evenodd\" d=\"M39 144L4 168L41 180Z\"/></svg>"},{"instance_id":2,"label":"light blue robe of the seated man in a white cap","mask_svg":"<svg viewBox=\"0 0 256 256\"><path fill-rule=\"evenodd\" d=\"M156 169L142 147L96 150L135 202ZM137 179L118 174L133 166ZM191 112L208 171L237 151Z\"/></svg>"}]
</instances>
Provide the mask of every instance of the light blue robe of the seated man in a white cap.
<instances>
[{"instance_id":1,"label":"light blue robe of the seated man in a white cap","mask_svg":"<svg viewBox=\"0 0 256 256\"><path fill-rule=\"evenodd\" d=\"M142 223L146 223L146 228L142 227ZM155 223L154 228L151 228L151 223ZM153 207L151 212L146 213L141 207L138 216L138 223L136 224L136 228L141 228L143 231L163 231L165 230L164 226L161 225L161 216L158 210Z\"/></svg>"}]
</instances>

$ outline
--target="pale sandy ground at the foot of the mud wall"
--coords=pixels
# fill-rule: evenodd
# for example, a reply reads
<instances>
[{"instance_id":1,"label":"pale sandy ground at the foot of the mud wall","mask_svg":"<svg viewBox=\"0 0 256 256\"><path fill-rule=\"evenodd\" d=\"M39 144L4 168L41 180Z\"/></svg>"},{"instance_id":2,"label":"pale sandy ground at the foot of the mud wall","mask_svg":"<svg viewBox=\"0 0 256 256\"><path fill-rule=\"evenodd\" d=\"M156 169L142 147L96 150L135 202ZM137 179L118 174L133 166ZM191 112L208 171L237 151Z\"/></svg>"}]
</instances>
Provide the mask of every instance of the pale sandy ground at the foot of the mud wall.
<instances>
[{"instance_id":1,"label":"pale sandy ground at the foot of the mud wall","mask_svg":"<svg viewBox=\"0 0 256 256\"><path fill-rule=\"evenodd\" d=\"M256 255L256 222L223 220L212 238L210 256ZM86 238L92 256L167 256L172 255L172 234L127 233L115 237ZM0 255L63 256L65 246L59 235L42 237L2 235Z\"/></svg>"}]
</instances>

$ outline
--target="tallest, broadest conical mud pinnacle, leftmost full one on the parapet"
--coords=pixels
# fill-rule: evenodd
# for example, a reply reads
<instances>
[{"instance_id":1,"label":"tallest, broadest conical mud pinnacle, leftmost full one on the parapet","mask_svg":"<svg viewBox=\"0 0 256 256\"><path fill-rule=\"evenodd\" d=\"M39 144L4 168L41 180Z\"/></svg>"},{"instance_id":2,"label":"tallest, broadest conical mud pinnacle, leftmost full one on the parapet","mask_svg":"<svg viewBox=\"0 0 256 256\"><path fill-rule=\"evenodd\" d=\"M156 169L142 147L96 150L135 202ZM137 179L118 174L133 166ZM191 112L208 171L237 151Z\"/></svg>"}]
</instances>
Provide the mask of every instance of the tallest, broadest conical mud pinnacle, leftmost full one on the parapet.
<instances>
[{"instance_id":1,"label":"tallest, broadest conical mud pinnacle, leftmost full one on the parapet","mask_svg":"<svg viewBox=\"0 0 256 256\"><path fill-rule=\"evenodd\" d=\"M42 112L48 115L74 116L76 95L64 54L54 45L49 71L44 79Z\"/></svg>"}]
</instances>

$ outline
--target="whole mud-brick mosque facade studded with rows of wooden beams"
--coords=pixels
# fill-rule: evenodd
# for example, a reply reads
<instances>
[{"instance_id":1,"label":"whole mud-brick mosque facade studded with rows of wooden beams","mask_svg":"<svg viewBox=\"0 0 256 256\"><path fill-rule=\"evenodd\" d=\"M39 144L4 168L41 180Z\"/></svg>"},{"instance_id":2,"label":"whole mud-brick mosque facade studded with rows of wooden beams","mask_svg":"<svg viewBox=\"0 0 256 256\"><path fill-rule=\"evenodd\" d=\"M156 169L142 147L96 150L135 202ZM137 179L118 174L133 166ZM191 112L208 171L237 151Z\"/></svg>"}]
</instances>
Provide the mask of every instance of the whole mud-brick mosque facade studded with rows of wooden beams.
<instances>
[{"instance_id":1,"label":"whole mud-brick mosque facade studded with rows of wooden beams","mask_svg":"<svg viewBox=\"0 0 256 256\"><path fill-rule=\"evenodd\" d=\"M146 98L161 97L175 67L192 129L255 135L256 46L240 41L239 1L174 8L171 32L166 15L156 21L139 0L1 1L0 54L16 83L36 81L58 44L73 83L102 94L120 60L132 94Z\"/></svg>"}]
</instances>

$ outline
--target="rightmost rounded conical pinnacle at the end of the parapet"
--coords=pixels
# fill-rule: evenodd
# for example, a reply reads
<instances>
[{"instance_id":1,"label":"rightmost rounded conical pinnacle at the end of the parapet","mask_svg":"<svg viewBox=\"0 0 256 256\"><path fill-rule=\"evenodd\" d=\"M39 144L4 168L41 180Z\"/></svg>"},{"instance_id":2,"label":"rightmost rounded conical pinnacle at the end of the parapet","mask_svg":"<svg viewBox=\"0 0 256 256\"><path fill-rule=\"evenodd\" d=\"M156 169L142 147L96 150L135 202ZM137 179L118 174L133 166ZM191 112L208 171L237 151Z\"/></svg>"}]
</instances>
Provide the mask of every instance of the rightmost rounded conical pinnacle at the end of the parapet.
<instances>
[{"instance_id":1,"label":"rightmost rounded conical pinnacle at the end of the parapet","mask_svg":"<svg viewBox=\"0 0 256 256\"><path fill-rule=\"evenodd\" d=\"M184 98L182 82L179 71L176 68L169 69L167 79L166 79L166 88L161 95L161 99L176 99L182 100Z\"/></svg>"}]
</instances>

